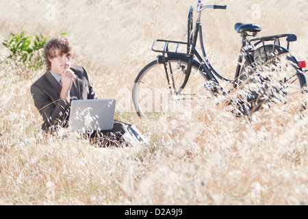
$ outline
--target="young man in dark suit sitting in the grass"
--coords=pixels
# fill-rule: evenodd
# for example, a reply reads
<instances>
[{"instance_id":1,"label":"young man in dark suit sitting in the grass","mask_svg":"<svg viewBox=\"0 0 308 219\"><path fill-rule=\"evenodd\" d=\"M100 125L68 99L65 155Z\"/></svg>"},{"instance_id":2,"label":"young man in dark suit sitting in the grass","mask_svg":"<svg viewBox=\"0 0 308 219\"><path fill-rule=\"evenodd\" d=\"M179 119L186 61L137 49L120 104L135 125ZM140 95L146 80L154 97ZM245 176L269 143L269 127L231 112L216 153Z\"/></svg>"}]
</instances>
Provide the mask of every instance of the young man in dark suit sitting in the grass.
<instances>
[{"instance_id":1,"label":"young man in dark suit sitting in the grass","mask_svg":"<svg viewBox=\"0 0 308 219\"><path fill-rule=\"evenodd\" d=\"M42 129L46 132L68 126L72 99L97 99L84 67L70 66L73 55L73 48L64 37L53 38L44 47L47 72L31 86L31 94L44 120ZM115 121L111 131L95 131L88 133L88 137L101 146L127 144L123 140L127 127L127 124Z\"/></svg>"}]
</instances>

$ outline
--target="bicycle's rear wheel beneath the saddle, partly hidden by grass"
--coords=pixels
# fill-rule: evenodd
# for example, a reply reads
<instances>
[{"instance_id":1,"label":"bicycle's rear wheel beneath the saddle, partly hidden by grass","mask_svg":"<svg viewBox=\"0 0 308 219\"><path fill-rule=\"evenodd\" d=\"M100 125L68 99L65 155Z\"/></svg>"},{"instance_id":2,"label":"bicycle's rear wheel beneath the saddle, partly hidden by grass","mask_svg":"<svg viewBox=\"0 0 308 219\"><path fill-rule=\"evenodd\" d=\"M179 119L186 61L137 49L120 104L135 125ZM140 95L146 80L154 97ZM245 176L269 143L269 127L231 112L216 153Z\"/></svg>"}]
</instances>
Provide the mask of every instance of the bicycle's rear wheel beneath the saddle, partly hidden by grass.
<instances>
[{"instance_id":1,"label":"bicycle's rear wheel beneath the saddle, partly hidden by grass","mask_svg":"<svg viewBox=\"0 0 308 219\"><path fill-rule=\"evenodd\" d=\"M261 109L263 103L285 102L287 96L296 98L306 89L307 81L301 73L296 57L277 45L259 47L253 53L253 64L244 62L239 81L242 86L259 83L259 88L250 90L248 98L251 112Z\"/></svg>"}]
</instances>

